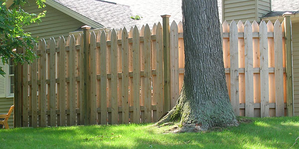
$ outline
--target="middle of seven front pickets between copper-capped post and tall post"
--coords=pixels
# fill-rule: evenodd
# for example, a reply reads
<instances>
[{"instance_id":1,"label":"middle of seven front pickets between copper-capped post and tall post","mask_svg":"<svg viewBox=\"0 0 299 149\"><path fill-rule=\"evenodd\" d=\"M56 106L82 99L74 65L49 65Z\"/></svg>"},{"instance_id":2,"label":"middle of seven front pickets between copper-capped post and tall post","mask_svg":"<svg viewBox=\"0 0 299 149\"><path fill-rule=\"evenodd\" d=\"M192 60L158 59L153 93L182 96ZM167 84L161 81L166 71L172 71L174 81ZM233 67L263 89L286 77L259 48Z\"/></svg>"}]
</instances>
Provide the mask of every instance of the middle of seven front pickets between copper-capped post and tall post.
<instances>
[{"instance_id":1,"label":"middle of seven front pickets between copper-capped post and tall post","mask_svg":"<svg viewBox=\"0 0 299 149\"><path fill-rule=\"evenodd\" d=\"M124 27L122 32L122 115L123 122L129 122L129 51L128 32Z\"/></svg>"}]
</instances>

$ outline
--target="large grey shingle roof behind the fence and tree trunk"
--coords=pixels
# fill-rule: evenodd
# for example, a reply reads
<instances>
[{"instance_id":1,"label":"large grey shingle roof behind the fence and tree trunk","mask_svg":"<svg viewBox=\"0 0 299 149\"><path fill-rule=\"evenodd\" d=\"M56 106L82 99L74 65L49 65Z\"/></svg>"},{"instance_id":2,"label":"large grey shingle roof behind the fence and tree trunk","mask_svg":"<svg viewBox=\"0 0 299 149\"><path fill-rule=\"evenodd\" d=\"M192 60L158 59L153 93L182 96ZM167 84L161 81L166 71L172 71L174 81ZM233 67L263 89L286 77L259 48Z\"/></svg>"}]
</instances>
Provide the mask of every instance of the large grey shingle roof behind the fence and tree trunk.
<instances>
[{"instance_id":1,"label":"large grey shingle roof behind the fence and tree trunk","mask_svg":"<svg viewBox=\"0 0 299 149\"><path fill-rule=\"evenodd\" d=\"M54 0L63 6L107 27L120 29L146 23L152 27L161 22L160 15L171 15L169 22L182 20L181 0ZM116 3L114 3L116 2ZM219 18L221 18L221 0L218 0ZM131 19L139 15L141 20ZM221 20L220 20L221 21Z\"/></svg>"}]
</instances>

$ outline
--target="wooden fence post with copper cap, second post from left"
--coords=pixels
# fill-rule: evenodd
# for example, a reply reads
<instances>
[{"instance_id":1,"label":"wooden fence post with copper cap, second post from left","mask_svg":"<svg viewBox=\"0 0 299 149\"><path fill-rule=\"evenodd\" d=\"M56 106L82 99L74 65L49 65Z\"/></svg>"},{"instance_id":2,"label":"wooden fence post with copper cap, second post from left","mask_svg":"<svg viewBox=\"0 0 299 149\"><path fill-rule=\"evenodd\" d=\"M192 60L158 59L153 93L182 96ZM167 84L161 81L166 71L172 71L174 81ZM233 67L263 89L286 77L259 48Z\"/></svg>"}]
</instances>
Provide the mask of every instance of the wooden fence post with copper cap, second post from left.
<instances>
[{"instance_id":1,"label":"wooden fence post with copper cap, second post from left","mask_svg":"<svg viewBox=\"0 0 299 149\"><path fill-rule=\"evenodd\" d=\"M90 26L82 26L83 29L83 72L84 72L84 93L83 93L83 117L84 117L84 125L90 124L90 66L89 66L89 56L90 56L90 35L89 30ZM80 76L81 77L81 76Z\"/></svg>"}]
</instances>

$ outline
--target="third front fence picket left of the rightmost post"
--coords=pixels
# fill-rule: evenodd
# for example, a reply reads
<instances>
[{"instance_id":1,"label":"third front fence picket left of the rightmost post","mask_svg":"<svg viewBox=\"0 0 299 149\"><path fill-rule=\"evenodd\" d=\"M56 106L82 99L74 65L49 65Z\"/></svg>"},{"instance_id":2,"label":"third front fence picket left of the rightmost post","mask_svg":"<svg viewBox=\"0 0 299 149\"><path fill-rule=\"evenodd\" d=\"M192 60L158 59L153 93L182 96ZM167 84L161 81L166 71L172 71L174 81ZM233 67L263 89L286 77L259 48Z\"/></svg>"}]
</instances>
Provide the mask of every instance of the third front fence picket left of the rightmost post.
<instances>
[{"instance_id":1,"label":"third front fence picket left of the rightmost post","mask_svg":"<svg viewBox=\"0 0 299 149\"><path fill-rule=\"evenodd\" d=\"M245 44L245 116L254 117L253 99L253 47L252 47L252 26L249 21L244 26Z\"/></svg>"}]
</instances>

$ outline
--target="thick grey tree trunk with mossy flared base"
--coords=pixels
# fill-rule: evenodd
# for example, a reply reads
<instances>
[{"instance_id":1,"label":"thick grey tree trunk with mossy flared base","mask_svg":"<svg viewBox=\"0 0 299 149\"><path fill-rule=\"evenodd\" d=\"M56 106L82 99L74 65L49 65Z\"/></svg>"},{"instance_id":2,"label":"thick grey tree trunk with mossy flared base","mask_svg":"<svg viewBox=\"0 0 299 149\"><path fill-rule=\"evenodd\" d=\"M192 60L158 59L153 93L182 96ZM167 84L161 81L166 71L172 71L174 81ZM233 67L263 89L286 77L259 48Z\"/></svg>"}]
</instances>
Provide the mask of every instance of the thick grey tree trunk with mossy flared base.
<instances>
[{"instance_id":1,"label":"thick grey tree trunk with mossy flared base","mask_svg":"<svg viewBox=\"0 0 299 149\"><path fill-rule=\"evenodd\" d=\"M176 105L156 125L179 121L179 132L238 126L223 65L217 0L182 0L184 83Z\"/></svg>"}]
</instances>

